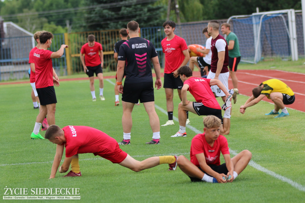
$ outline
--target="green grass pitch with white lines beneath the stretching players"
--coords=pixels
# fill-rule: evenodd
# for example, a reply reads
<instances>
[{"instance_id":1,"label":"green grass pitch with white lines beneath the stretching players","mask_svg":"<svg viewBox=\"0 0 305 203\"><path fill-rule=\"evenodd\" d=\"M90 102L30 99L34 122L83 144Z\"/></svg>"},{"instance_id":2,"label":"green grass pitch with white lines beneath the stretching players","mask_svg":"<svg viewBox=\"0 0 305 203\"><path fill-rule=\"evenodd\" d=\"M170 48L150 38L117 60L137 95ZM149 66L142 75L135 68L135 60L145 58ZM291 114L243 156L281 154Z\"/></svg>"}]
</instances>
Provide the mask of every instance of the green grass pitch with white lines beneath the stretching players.
<instances>
[{"instance_id":1,"label":"green grass pitch with white lines beneath the stretching players","mask_svg":"<svg viewBox=\"0 0 305 203\"><path fill-rule=\"evenodd\" d=\"M114 79L105 80L106 101L96 102L91 101L88 80L61 82L60 87L55 88L56 124L95 127L121 141L122 106L114 106L114 82ZM98 82L95 84L98 89ZM28 191L30 188L80 188L81 200L76 202L304 201L304 112L288 109L289 117L274 119L264 115L273 105L260 102L242 115L239 106L247 97L239 95L233 105L231 131L226 137L231 156L244 149L251 151L253 156L250 166L233 183L191 183L179 168L167 171L167 165L136 173L93 154L80 155L81 177L61 178L65 174L57 173L55 179L49 180L56 145L47 140L30 139L38 114L38 110L33 110L30 92L30 84L0 85L1 200L4 188L8 187L28 188ZM194 100L191 95L188 98ZM176 117L178 103L175 92ZM167 114L164 113L163 88L155 91L155 104L160 124L164 124ZM143 105L135 106L131 145L121 148L137 160L154 155L189 158L192 137L203 131L203 117L190 113L189 119L193 130L187 128L187 137L170 137L179 129L178 121L175 121L175 126L161 127L161 144L145 145L151 140L152 131Z\"/></svg>"}]
</instances>

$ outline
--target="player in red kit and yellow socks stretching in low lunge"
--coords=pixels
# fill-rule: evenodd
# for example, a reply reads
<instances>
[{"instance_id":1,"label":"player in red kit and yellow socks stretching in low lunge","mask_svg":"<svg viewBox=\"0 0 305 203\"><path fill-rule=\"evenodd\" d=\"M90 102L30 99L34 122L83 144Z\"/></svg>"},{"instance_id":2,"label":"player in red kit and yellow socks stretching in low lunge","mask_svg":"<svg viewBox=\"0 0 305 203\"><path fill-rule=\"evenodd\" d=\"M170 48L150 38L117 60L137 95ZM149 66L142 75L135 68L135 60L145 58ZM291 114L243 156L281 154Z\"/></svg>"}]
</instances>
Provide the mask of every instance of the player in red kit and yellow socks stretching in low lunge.
<instances>
[{"instance_id":1,"label":"player in red kit and yellow socks stretching in low lunge","mask_svg":"<svg viewBox=\"0 0 305 203\"><path fill-rule=\"evenodd\" d=\"M155 156L141 162L137 161L125 151L122 151L115 139L88 126L66 126L61 129L59 126L51 125L45 132L45 138L53 144L57 144L50 179L55 178L64 147L66 147L66 158L59 168L59 173L68 171L73 156L84 153L99 155L135 172L165 163L169 164L169 170L176 170L177 168L177 156ZM81 173L78 176L81 176Z\"/></svg>"}]
</instances>

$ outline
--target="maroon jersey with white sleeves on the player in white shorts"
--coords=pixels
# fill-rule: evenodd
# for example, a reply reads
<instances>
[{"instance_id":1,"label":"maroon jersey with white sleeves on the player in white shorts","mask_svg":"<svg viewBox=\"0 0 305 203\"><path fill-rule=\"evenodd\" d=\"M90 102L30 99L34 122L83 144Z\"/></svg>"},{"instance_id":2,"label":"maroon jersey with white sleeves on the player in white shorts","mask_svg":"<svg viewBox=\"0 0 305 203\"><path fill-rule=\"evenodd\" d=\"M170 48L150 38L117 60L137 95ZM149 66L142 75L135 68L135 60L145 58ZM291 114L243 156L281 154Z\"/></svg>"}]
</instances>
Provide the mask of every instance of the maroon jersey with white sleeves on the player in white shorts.
<instances>
[{"instance_id":1,"label":"maroon jersey with white sleeves on the player in white shorts","mask_svg":"<svg viewBox=\"0 0 305 203\"><path fill-rule=\"evenodd\" d=\"M228 44L224 37L220 34L211 40L211 51L212 51L212 58L211 58L211 72L216 73L217 70L217 63L218 63L218 52L225 51L224 54L224 64L222 65L222 69L220 73L227 73L229 72L228 64L229 64L229 52L228 52Z\"/></svg>"}]
</instances>

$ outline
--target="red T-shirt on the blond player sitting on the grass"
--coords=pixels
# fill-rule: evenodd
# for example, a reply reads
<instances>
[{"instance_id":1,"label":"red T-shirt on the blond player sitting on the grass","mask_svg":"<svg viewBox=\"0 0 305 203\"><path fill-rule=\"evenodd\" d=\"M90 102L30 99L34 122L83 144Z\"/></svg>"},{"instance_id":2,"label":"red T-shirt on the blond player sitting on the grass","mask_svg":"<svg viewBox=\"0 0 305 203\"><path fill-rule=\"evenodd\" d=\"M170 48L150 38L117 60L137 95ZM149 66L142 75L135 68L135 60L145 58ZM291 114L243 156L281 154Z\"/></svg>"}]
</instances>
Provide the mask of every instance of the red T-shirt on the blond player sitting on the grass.
<instances>
[{"instance_id":1,"label":"red T-shirt on the blond player sitting on the grass","mask_svg":"<svg viewBox=\"0 0 305 203\"><path fill-rule=\"evenodd\" d=\"M221 154L230 154L229 147L228 147L228 141L227 138L225 138L222 135L219 135L217 140L214 141L213 147L211 147L207 142L206 138L204 137L205 133L203 134L197 134L192 139L191 144L191 162L199 166L199 162L196 158L196 154L203 153L206 158L206 164L215 164L220 165L220 152Z\"/></svg>"}]
</instances>

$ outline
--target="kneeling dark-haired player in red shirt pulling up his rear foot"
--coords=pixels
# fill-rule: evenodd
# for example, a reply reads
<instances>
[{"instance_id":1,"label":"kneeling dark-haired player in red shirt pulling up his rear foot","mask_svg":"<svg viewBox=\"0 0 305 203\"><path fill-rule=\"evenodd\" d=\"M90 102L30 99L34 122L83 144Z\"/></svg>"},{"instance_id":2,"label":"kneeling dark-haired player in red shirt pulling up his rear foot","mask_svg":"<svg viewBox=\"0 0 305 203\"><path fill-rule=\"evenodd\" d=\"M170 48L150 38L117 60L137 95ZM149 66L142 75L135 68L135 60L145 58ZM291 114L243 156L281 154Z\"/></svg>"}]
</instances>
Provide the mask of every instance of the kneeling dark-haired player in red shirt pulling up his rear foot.
<instances>
[{"instance_id":1,"label":"kneeling dark-haired player in red shirt pulling up his rear foot","mask_svg":"<svg viewBox=\"0 0 305 203\"><path fill-rule=\"evenodd\" d=\"M185 122L186 112L190 111L198 116L214 115L217 116L223 124L221 124L220 133L227 135L230 133L230 117L231 117L231 94L228 93L220 80L192 77L192 69L188 66L182 66L178 69L178 75L183 82L181 89L182 102L178 105L179 131L170 137L186 137ZM211 85L217 85L226 94L226 100L222 108L218 104L212 90ZM189 91L195 98L196 102L190 102L186 98ZM224 119L222 119L221 109L224 110Z\"/></svg>"}]
</instances>

